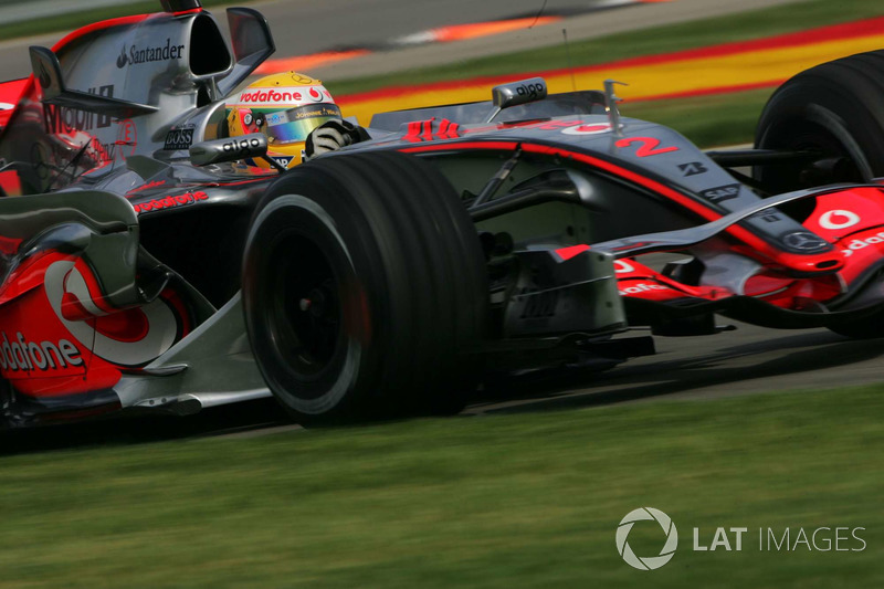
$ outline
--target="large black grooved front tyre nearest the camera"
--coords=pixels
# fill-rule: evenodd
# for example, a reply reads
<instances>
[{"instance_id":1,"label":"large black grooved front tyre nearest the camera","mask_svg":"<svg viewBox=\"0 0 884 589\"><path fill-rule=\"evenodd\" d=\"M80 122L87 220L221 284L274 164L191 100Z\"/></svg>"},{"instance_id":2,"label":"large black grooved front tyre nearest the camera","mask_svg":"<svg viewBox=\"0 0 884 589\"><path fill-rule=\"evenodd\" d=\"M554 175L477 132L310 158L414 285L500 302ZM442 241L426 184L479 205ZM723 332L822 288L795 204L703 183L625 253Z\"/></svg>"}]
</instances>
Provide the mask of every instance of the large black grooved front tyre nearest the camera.
<instances>
[{"instance_id":1,"label":"large black grooved front tyre nearest the camera","mask_svg":"<svg viewBox=\"0 0 884 589\"><path fill-rule=\"evenodd\" d=\"M286 172L255 211L242 282L257 366L302 423L456 412L475 388L485 259L428 162L369 151Z\"/></svg>"}]
</instances>

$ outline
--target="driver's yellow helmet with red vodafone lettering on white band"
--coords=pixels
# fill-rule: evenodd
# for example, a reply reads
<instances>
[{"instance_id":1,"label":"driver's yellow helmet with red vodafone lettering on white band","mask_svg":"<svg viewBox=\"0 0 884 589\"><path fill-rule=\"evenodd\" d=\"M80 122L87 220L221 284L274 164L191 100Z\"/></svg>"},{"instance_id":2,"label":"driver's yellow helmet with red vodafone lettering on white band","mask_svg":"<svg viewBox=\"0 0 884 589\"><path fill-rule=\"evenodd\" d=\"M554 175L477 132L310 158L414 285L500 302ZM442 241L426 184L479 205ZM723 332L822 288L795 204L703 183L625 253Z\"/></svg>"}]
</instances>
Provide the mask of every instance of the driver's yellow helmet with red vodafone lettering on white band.
<instances>
[{"instance_id":1,"label":"driver's yellow helmet with red vodafone lettering on white band","mask_svg":"<svg viewBox=\"0 0 884 589\"><path fill-rule=\"evenodd\" d=\"M304 145L313 129L340 120L340 108L323 83L297 72L273 74L253 82L227 104L231 137L250 133L267 136L267 156L284 168L304 160ZM270 168L263 159L246 166Z\"/></svg>"}]
</instances>

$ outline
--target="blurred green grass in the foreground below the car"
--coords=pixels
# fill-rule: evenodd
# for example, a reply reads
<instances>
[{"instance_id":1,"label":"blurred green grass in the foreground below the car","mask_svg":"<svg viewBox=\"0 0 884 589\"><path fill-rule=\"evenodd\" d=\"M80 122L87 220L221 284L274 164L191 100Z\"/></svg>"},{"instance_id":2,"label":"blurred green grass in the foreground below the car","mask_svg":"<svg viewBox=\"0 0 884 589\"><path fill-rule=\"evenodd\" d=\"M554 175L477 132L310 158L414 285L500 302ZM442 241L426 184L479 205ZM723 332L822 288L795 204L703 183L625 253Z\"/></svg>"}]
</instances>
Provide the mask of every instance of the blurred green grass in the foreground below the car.
<instances>
[{"instance_id":1,"label":"blurred green grass in the foreground below the car","mask_svg":"<svg viewBox=\"0 0 884 589\"><path fill-rule=\"evenodd\" d=\"M884 388L417 420L0 461L0 587L881 587ZM680 548L636 571L621 517ZM643 525L643 524L642 524ZM661 535L636 525L631 544ZM744 551L694 553L718 526ZM757 528L865 527L864 551ZM859 547L859 543L849 545Z\"/></svg>"}]
</instances>

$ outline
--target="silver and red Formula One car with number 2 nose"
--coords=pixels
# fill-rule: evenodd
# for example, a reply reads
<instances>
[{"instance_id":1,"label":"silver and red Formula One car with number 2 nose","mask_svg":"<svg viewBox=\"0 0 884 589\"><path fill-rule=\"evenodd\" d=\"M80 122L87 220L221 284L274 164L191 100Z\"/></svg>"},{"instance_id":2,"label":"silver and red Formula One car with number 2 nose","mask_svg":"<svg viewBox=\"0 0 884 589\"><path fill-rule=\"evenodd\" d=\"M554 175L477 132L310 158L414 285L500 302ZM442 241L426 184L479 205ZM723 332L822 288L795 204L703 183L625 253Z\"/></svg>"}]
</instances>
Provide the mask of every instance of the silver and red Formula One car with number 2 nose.
<instances>
[{"instance_id":1,"label":"silver and red Formula One car with number 2 nose","mask_svg":"<svg viewBox=\"0 0 884 589\"><path fill-rule=\"evenodd\" d=\"M227 136L224 99L267 24L230 9L228 42L199 2L164 8L0 86L9 424L270 395L302 421L455 411L491 371L622 361L653 351L628 327L716 314L880 334L881 53L787 82L744 151L621 118L612 83L533 78L244 173L267 138Z\"/></svg>"}]
</instances>

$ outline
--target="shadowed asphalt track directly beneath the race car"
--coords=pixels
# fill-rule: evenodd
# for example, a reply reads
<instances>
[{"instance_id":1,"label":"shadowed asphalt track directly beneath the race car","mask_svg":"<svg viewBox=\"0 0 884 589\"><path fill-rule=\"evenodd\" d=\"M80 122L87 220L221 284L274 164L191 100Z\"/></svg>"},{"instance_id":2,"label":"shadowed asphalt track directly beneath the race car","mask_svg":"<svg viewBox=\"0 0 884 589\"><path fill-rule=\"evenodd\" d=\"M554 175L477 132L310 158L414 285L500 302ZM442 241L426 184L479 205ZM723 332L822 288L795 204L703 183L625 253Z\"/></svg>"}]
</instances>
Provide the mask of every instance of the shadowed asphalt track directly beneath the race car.
<instances>
[{"instance_id":1,"label":"shadowed asphalt track directly beneath the race car","mask_svg":"<svg viewBox=\"0 0 884 589\"><path fill-rule=\"evenodd\" d=\"M719 320L719 325L727 324ZM736 330L714 336L656 338L656 355L603 372L523 377L482 393L461 416L450 419L657 400L703 401L760 392L800 395L884 380L884 338L852 340L827 329L788 332L734 325ZM301 428L287 422L269 399L188 418L117 418L4 431L0 432L0 455L196 437L250 438L293 430Z\"/></svg>"}]
</instances>

